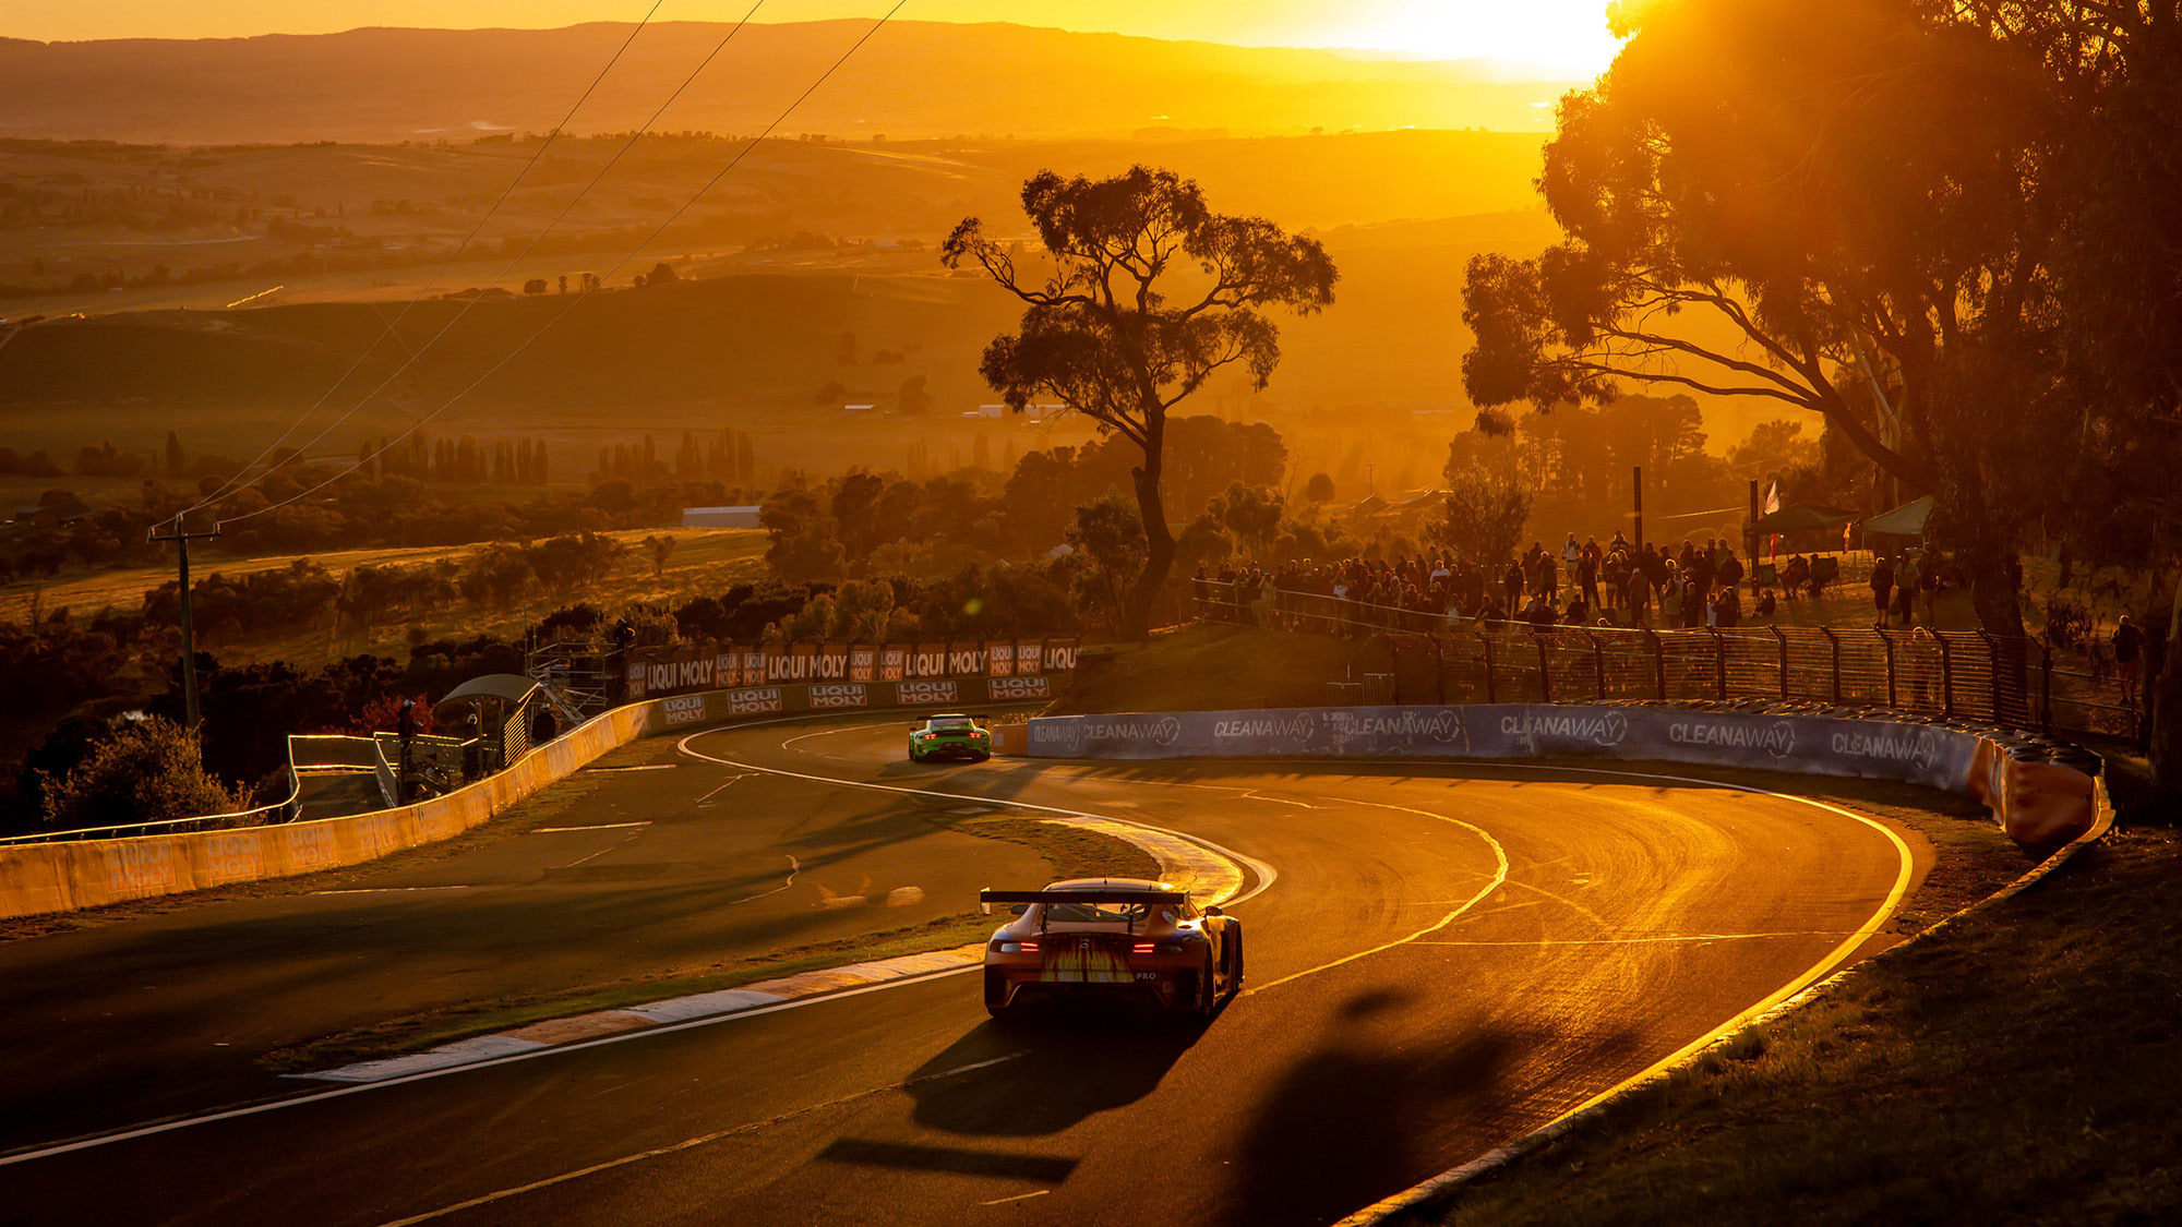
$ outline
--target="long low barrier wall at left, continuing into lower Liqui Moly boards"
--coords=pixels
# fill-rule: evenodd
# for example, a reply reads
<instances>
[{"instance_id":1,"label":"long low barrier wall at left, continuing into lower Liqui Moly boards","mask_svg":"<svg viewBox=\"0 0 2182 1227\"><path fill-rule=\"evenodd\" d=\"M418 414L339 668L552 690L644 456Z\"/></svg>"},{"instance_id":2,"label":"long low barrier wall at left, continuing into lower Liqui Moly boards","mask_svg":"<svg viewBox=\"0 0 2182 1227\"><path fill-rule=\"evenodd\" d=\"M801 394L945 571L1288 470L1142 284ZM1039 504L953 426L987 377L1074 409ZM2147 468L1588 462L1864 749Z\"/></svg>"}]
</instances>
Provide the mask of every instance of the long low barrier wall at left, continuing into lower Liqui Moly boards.
<instances>
[{"instance_id":1,"label":"long low barrier wall at left, continuing into lower Liqui Moly boards","mask_svg":"<svg viewBox=\"0 0 2182 1227\"><path fill-rule=\"evenodd\" d=\"M607 751L666 731L775 714L1043 701L1054 696L1054 686L1050 675L945 677L744 686L650 699L594 716L506 771L415 806L308 823L0 847L0 919L362 865L487 823Z\"/></svg>"}]
</instances>

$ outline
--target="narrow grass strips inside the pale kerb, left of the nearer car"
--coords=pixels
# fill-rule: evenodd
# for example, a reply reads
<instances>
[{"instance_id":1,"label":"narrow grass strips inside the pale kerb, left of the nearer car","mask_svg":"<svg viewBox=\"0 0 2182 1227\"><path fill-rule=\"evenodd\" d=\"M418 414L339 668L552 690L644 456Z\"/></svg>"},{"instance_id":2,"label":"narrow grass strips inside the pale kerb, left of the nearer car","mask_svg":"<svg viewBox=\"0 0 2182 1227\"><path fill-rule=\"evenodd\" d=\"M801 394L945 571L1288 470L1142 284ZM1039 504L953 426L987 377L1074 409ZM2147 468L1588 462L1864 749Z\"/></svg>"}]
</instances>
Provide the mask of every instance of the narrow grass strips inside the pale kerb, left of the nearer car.
<instances>
[{"instance_id":1,"label":"narrow grass strips inside the pale kerb, left of the nearer car","mask_svg":"<svg viewBox=\"0 0 2182 1227\"><path fill-rule=\"evenodd\" d=\"M934 825L960 834L999 838L1030 847L1054 867L1054 880L1159 878L1159 862L1150 854L1132 843L1098 832L1054 825L1036 819L991 814L956 817L927 812L923 817ZM984 937L993 932L993 926L995 921L988 915L958 913L864 937L820 941L790 950L751 954L744 958L724 958L705 967L659 972L594 985L572 985L546 993L465 1002L458 1006L388 1017L369 1026L312 1039L308 1044L277 1048L260 1057L257 1063L275 1074L290 1074L375 1057L397 1057L552 1017L738 989L759 980L777 980L799 972L820 972L844 963L875 963L879 958L899 958L903 954L954 950L958 945L984 941Z\"/></svg>"}]
</instances>

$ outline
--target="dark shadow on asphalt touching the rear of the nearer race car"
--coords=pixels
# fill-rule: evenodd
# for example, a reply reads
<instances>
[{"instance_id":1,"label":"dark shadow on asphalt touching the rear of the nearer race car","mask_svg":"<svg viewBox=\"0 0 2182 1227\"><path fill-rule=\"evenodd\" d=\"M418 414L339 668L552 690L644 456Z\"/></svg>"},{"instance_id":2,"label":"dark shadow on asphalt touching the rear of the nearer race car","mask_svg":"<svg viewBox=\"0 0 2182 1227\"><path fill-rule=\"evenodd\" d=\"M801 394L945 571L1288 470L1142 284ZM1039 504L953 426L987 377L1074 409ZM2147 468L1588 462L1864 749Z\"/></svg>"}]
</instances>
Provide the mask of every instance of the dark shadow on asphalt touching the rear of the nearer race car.
<instances>
[{"instance_id":1,"label":"dark shadow on asphalt touching the rear of the nearer race car","mask_svg":"<svg viewBox=\"0 0 2182 1227\"><path fill-rule=\"evenodd\" d=\"M916 1070L914 1120L949 1133L1036 1137L1152 1094L1204 1022L1128 1006L1052 1006L986 1022Z\"/></svg>"}]
</instances>

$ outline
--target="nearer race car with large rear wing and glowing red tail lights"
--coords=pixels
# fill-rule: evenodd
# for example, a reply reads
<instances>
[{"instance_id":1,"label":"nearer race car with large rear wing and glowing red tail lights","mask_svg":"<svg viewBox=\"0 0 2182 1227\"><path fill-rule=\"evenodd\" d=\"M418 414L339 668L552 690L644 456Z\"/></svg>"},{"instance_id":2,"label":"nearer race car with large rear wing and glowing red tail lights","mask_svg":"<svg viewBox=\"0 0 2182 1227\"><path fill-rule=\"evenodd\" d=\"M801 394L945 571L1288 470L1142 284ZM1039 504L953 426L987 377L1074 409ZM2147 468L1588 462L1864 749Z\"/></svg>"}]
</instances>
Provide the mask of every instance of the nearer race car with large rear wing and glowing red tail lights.
<instances>
[{"instance_id":1,"label":"nearer race car with large rear wing and glowing red tail lights","mask_svg":"<svg viewBox=\"0 0 2182 1227\"><path fill-rule=\"evenodd\" d=\"M982 891L1012 908L984 945L984 1009L1115 996L1211 1017L1242 987L1242 921L1165 882L1078 878L1043 891Z\"/></svg>"}]
</instances>

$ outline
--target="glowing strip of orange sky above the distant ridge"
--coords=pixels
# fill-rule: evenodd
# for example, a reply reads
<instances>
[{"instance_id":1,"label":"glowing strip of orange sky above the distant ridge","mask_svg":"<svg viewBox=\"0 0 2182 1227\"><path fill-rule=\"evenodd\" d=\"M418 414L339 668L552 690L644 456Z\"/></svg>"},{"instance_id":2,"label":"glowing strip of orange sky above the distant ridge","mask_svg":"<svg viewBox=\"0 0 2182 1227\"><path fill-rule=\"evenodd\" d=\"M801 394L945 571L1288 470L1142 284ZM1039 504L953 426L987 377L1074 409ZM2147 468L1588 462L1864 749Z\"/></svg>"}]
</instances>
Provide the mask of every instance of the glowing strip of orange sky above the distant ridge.
<instances>
[{"instance_id":1,"label":"glowing strip of orange sky above the distant ridge","mask_svg":"<svg viewBox=\"0 0 2182 1227\"><path fill-rule=\"evenodd\" d=\"M890 0L766 0L757 20L886 11ZM9 4L0 35L26 39L236 37L356 26L524 26L626 22L650 0L79 0ZM666 0L659 20L729 20L748 0ZM1606 0L910 0L901 17L1021 22L1172 39L1386 48L1423 57L1503 57L1597 72L1612 57Z\"/></svg>"}]
</instances>

